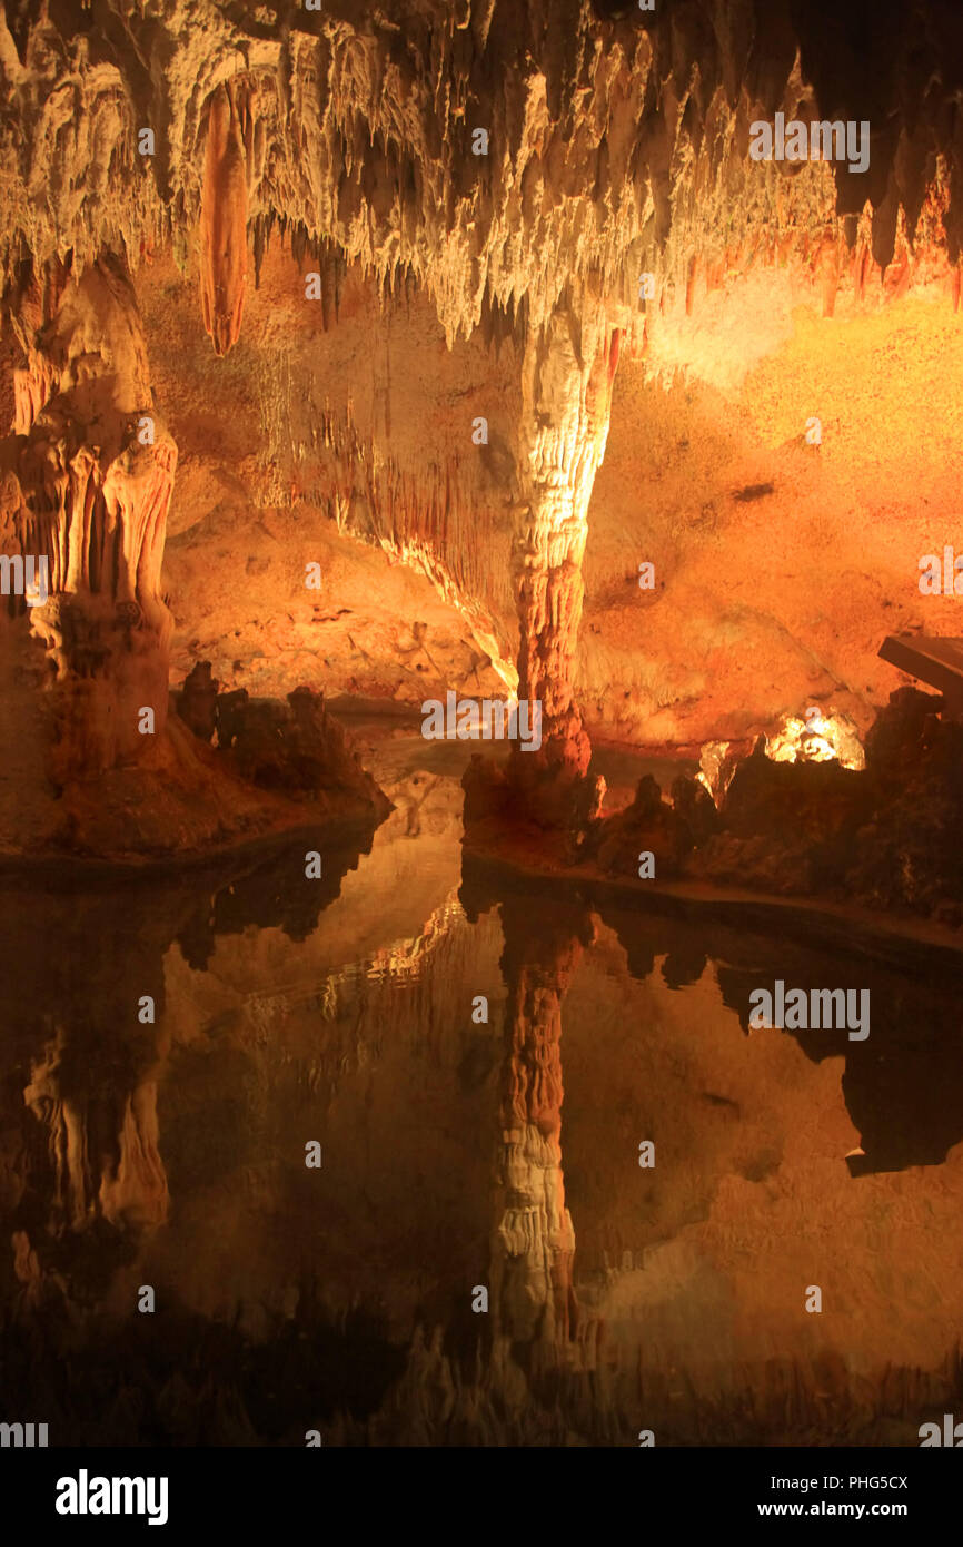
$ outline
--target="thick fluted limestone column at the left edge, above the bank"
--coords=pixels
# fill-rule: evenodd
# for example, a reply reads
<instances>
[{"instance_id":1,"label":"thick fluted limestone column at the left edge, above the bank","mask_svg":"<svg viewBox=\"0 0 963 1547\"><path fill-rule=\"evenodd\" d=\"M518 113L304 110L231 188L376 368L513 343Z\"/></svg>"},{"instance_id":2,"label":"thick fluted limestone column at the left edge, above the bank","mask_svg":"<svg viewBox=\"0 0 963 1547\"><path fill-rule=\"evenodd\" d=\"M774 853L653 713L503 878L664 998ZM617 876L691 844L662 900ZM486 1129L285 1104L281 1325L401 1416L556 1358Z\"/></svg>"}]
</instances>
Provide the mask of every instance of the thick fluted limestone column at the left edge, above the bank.
<instances>
[{"instance_id":1,"label":"thick fluted limestone column at the left edge, above the bank","mask_svg":"<svg viewBox=\"0 0 963 1547\"><path fill-rule=\"evenodd\" d=\"M25 291L14 325L15 433L0 446L5 551L46 557L29 627L54 668L56 781L138 756L144 707L167 716L172 616L161 562L176 446L155 405L141 319L119 260Z\"/></svg>"}]
</instances>

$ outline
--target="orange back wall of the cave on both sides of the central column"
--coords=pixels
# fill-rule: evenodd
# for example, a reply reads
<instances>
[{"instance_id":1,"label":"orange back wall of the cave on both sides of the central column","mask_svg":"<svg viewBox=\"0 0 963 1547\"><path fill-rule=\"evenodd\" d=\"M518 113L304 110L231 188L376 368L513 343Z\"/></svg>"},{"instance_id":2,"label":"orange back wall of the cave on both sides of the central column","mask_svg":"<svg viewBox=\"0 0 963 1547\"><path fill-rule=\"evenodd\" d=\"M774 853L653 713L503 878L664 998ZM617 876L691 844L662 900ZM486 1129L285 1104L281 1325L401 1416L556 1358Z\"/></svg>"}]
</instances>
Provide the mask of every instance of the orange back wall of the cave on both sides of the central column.
<instances>
[{"instance_id":1,"label":"orange back wall of the cave on both sides of the central column","mask_svg":"<svg viewBox=\"0 0 963 1547\"><path fill-rule=\"evenodd\" d=\"M499 696L518 661L518 354L504 343L495 356L478 334L450 353L424 294L382 306L354 271L337 326L325 331L317 308L306 326L300 274L272 248L249 331L218 362L190 283L159 260L141 272L179 447L165 555L175 679L212 659L252 692L320 676L332 693L416 707L450 685ZM867 729L900 681L876 656L884 633L955 630L954 599L923 599L917 582L920 555L952 537L961 368L938 280L892 302L847 280L827 319L818 275L778 265L700 291L648 354L623 351L578 528L572 681L592 739L694 750L771 730L810 701ZM363 455L331 444L348 404ZM490 442L476 447L482 413ZM812 413L818 447L804 438ZM427 478L447 490L444 520L419 500ZM419 540L427 566L411 558ZM312 558L320 594L303 585ZM411 622L428 625L422 644Z\"/></svg>"}]
</instances>

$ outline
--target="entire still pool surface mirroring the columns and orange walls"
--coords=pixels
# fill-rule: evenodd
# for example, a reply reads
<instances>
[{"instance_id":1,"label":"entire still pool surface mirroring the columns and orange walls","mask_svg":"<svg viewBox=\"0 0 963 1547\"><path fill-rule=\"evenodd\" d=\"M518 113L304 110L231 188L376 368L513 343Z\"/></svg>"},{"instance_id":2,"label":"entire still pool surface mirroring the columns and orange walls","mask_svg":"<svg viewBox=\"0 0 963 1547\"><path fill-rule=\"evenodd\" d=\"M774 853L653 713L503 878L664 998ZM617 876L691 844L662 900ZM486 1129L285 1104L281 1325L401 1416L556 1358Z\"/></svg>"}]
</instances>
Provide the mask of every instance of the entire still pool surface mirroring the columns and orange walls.
<instances>
[{"instance_id":1,"label":"entire still pool surface mirroring the columns and orange walls","mask_svg":"<svg viewBox=\"0 0 963 1547\"><path fill-rule=\"evenodd\" d=\"M958 1386L952 962L518 888L462 866L458 770L393 794L323 882L301 845L0 890L0 1417L51 1443L915 1443ZM869 985L870 1038L750 1033L776 978Z\"/></svg>"}]
</instances>

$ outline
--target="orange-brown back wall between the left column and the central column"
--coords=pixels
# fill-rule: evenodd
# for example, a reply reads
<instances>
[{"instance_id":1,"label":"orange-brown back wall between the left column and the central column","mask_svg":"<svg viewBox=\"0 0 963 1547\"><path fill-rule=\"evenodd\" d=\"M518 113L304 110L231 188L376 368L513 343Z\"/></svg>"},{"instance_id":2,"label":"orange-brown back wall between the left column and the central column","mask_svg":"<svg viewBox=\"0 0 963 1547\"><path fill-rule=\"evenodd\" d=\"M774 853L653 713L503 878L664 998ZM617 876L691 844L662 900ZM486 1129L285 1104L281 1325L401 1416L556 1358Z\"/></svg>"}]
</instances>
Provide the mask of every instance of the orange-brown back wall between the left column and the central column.
<instances>
[{"instance_id":1,"label":"orange-brown back wall between the left column and the central column","mask_svg":"<svg viewBox=\"0 0 963 1547\"><path fill-rule=\"evenodd\" d=\"M309 263L272 246L224 360L173 263L141 271L181 452L175 678L209 659L226 687L261 693L320 681L408 704L462 685L498 696L516 682L513 351L493 357L481 334L448 350L422 292L385 302L357 269L326 326L305 303Z\"/></svg>"}]
</instances>

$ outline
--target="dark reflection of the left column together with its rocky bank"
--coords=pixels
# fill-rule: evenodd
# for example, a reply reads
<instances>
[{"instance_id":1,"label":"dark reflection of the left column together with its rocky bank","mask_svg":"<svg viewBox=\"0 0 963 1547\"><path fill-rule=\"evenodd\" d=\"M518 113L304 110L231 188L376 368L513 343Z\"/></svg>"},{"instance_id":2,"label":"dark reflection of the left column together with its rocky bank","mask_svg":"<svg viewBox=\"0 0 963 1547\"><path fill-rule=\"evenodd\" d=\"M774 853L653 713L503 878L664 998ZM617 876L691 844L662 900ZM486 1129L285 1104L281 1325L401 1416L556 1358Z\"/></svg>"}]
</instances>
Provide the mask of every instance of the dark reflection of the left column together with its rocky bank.
<instances>
[{"instance_id":1,"label":"dark reflection of the left column together with its rocky bank","mask_svg":"<svg viewBox=\"0 0 963 1547\"><path fill-rule=\"evenodd\" d=\"M352 863L357 852L328 846L323 879L309 880L298 845L193 880L83 893L56 882L49 893L3 888L9 1043L0 1170L28 1296L68 1281L83 1299L90 1270L104 1290L139 1236L168 1216L158 1089L168 1077L172 942L201 968L216 936L255 922L305 939Z\"/></svg>"}]
</instances>

